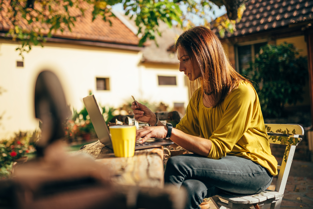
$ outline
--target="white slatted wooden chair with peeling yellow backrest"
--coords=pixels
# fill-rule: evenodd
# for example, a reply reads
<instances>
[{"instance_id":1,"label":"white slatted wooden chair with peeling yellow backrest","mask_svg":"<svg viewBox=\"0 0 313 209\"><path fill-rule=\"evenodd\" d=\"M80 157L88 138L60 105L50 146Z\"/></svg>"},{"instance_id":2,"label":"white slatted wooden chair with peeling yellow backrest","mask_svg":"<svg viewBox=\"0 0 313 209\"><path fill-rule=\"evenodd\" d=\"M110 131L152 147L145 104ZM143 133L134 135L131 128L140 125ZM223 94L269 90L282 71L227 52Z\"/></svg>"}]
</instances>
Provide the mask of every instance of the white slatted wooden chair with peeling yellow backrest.
<instances>
[{"instance_id":1,"label":"white slatted wooden chair with peeling yellow backrest","mask_svg":"<svg viewBox=\"0 0 313 209\"><path fill-rule=\"evenodd\" d=\"M269 143L286 145L286 150L279 171L275 191L265 190L255 195L221 193L210 197L217 208L243 209L256 205L271 204L270 209L279 209L284 196L284 190L290 171L291 162L295 154L295 147L302 140L304 135L303 127L290 124L265 124Z\"/></svg>"}]
</instances>

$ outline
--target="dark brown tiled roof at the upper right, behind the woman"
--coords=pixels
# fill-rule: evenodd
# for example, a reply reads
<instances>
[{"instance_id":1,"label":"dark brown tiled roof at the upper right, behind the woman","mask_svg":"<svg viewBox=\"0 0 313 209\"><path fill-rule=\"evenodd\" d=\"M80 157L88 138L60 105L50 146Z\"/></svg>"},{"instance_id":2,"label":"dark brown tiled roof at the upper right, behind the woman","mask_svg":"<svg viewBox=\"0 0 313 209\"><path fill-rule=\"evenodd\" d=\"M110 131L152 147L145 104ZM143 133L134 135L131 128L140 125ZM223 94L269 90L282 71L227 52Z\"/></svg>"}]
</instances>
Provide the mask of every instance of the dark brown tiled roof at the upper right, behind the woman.
<instances>
[{"instance_id":1,"label":"dark brown tiled roof at the upper right, behind the woman","mask_svg":"<svg viewBox=\"0 0 313 209\"><path fill-rule=\"evenodd\" d=\"M239 37L270 29L285 27L291 23L313 19L312 0L249 0L236 31L225 33L224 38ZM217 28L211 29L218 33Z\"/></svg>"}]
</instances>

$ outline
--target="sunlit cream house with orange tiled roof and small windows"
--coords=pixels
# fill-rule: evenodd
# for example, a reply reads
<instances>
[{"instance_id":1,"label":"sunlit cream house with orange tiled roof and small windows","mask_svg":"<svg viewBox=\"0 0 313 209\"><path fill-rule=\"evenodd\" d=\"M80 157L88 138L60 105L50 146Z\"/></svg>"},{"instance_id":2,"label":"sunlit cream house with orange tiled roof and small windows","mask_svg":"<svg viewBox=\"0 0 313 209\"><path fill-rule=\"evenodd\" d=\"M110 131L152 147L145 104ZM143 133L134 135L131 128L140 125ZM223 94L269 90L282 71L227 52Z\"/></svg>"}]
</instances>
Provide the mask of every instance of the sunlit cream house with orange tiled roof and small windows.
<instances>
[{"instance_id":1,"label":"sunlit cream house with orange tiled roof and small windows","mask_svg":"<svg viewBox=\"0 0 313 209\"><path fill-rule=\"evenodd\" d=\"M164 48L174 44L174 35L161 38L160 48L154 43L138 47L139 38L122 18L107 18L112 26L100 17L91 19L89 9L72 32L57 31L44 47L32 46L22 59L15 50L19 43L5 38L9 26L0 15L0 139L38 128L34 85L44 69L57 74L67 103L78 111L90 91L101 106L120 107L132 101L131 95L139 101L163 102L169 109L187 106L185 76L178 70L175 53Z\"/></svg>"}]
</instances>

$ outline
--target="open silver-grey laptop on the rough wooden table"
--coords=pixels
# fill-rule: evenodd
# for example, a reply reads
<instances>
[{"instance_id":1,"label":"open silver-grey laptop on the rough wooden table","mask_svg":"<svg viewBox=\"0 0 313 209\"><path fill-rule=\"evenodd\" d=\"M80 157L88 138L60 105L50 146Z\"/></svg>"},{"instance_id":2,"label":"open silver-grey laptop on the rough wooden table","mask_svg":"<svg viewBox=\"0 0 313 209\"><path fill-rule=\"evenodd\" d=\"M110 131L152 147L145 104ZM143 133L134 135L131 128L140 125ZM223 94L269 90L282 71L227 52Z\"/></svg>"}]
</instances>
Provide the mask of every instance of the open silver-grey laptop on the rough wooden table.
<instances>
[{"instance_id":1,"label":"open silver-grey laptop on the rough wooden table","mask_svg":"<svg viewBox=\"0 0 313 209\"><path fill-rule=\"evenodd\" d=\"M90 117L91 123L95 128L95 132L98 136L99 141L103 145L112 148L111 135L110 135L108 126L106 125L105 120L103 118L103 115L100 112L95 96L90 95L90 96L84 97L83 101L84 101L86 110L88 112L88 115ZM136 142L135 150L143 150L143 149L160 147L163 145L170 145L170 144L174 144L174 142L167 141L164 139L150 138L144 143Z\"/></svg>"}]
</instances>

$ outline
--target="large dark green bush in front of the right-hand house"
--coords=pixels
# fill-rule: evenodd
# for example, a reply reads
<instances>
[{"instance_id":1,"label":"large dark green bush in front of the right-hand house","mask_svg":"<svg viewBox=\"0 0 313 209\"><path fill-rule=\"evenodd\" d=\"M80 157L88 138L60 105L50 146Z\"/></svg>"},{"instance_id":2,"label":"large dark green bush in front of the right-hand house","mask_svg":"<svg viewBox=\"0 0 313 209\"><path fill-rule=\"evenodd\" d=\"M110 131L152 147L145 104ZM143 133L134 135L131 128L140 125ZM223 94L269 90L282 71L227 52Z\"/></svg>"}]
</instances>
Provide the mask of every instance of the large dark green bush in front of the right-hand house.
<instances>
[{"instance_id":1,"label":"large dark green bush in front of the right-hand house","mask_svg":"<svg viewBox=\"0 0 313 209\"><path fill-rule=\"evenodd\" d=\"M250 68L243 70L254 81L265 118L280 117L285 104L303 100L307 59L298 55L293 44L266 45L261 47Z\"/></svg>"}]
</instances>

